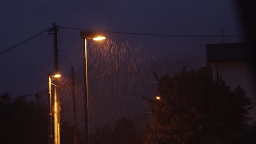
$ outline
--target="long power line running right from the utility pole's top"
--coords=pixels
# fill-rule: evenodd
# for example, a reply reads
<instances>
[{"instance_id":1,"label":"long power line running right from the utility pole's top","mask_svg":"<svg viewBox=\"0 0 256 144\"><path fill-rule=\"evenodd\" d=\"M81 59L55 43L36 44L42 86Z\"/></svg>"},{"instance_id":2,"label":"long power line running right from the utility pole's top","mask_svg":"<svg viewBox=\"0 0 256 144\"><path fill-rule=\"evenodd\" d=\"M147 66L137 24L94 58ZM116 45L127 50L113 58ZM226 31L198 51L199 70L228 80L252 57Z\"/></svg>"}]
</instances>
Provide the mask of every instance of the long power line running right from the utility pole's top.
<instances>
[{"instance_id":1,"label":"long power line running right from the utility pole's top","mask_svg":"<svg viewBox=\"0 0 256 144\"><path fill-rule=\"evenodd\" d=\"M136 34L136 35L154 35L163 37L245 37L243 35L173 35L173 34L152 34L152 33L130 33L130 32L117 32L117 31L102 31L96 29L85 29L85 28L75 28L75 27L61 27L66 29L75 29L81 31L96 31L96 32L106 32L106 33L119 33L119 34Z\"/></svg>"}]
</instances>

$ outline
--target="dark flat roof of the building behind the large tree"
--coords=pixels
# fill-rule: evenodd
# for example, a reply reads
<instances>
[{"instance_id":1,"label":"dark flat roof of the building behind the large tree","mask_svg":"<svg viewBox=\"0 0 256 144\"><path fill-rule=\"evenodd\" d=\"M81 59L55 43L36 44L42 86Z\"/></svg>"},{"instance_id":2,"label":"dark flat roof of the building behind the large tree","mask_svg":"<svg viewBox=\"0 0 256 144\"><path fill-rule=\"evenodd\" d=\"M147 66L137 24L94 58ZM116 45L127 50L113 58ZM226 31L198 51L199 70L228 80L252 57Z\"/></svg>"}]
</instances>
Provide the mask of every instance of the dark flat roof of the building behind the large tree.
<instances>
[{"instance_id":1,"label":"dark flat roof of the building behind the large tree","mask_svg":"<svg viewBox=\"0 0 256 144\"><path fill-rule=\"evenodd\" d=\"M252 52L247 43L207 44L209 62L252 61Z\"/></svg>"}]
</instances>

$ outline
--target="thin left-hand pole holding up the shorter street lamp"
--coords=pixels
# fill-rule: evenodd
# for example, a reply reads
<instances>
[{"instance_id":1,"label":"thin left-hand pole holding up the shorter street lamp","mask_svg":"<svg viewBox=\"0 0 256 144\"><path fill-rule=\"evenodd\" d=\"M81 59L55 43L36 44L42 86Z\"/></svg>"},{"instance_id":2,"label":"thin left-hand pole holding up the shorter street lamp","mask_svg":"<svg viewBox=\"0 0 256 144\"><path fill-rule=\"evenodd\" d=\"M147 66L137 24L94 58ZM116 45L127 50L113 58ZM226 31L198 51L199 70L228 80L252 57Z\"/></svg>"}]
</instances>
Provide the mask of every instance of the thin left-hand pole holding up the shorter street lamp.
<instances>
[{"instance_id":1,"label":"thin left-hand pole holding up the shorter street lamp","mask_svg":"<svg viewBox=\"0 0 256 144\"><path fill-rule=\"evenodd\" d=\"M51 109L51 77L49 76L49 144L53 144L53 115Z\"/></svg>"}]
</instances>

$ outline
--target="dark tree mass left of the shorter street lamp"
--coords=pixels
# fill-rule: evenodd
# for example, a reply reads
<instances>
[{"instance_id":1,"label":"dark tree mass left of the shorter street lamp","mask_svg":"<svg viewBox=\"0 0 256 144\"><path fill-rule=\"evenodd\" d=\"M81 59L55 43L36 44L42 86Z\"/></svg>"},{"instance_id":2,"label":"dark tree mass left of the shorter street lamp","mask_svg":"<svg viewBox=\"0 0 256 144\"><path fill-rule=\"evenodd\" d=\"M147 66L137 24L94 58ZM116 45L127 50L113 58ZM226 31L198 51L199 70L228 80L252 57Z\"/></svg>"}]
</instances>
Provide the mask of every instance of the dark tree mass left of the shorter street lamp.
<instances>
[{"instance_id":1,"label":"dark tree mass left of the shorter street lamp","mask_svg":"<svg viewBox=\"0 0 256 144\"><path fill-rule=\"evenodd\" d=\"M7 93L1 100L10 99ZM46 106L21 98L0 103L1 143L47 143L48 113Z\"/></svg>"}]
</instances>

